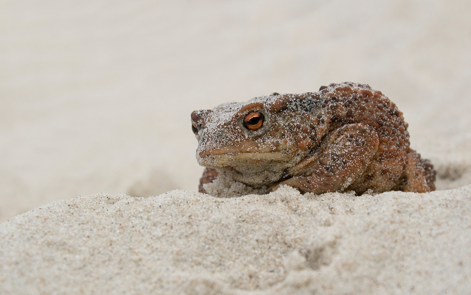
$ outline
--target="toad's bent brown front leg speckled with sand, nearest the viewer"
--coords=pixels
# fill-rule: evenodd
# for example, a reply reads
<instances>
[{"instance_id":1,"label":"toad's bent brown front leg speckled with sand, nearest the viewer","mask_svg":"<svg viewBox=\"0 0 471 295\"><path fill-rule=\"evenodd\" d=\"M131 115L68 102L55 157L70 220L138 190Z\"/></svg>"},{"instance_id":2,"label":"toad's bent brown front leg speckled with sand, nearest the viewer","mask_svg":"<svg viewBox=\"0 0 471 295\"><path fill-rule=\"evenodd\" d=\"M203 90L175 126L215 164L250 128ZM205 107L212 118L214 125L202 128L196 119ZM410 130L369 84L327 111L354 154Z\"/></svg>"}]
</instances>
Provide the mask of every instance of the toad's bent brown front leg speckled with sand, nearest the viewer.
<instances>
[{"instance_id":1,"label":"toad's bent brown front leg speckled with sand, nearest the viewer","mask_svg":"<svg viewBox=\"0 0 471 295\"><path fill-rule=\"evenodd\" d=\"M281 184L296 187L301 192L322 194L326 192L342 192L370 164L378 150L379 138L373 127L366 124L348 124L331 131L319 146L309 166L312 174L295 176L273 187L273 191Z\"/></svg>"}]
</instances>

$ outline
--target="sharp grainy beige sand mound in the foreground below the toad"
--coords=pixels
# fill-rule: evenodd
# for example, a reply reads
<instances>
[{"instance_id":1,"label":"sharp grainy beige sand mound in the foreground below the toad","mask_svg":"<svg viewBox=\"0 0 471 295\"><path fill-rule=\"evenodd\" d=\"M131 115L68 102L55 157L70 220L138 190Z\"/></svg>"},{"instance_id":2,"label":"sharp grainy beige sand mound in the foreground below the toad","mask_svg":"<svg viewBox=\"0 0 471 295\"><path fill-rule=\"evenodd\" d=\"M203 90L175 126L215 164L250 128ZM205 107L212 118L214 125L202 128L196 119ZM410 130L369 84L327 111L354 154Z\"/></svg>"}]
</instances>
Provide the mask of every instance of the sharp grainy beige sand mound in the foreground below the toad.
<instances>
[{"instance_id":1,"label":"sharp grainy beige sand mound in the foreground below the toad","mask_svg":"<svg viewBox=\"0 0 471 295\"><path fill-rule=\"evenodd\" d=\"M471 186L426 194L98 194L0 225L0 293L464 293Z\"/></svg>"}]
</instances>

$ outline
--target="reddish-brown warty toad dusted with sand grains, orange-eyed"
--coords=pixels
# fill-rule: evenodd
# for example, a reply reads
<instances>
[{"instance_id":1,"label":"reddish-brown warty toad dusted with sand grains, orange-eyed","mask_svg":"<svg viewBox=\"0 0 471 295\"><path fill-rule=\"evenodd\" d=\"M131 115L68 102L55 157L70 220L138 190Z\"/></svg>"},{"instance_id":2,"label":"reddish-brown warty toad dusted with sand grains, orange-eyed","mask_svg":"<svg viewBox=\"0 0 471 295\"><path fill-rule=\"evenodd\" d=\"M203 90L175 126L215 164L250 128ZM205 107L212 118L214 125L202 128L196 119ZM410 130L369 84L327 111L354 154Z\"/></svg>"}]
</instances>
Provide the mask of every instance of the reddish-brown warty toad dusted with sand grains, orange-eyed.
<instances>
[{"instance_id":1,"label":"reddish-brown warty toad dusted with sand grains, orange-eyed","mask_svg":"<svg viewBox=\"0 0 471 295\"><path fill-rule=\"evenodd\" d=\"M203 184L225 175L265 192L429 192L432 164L410 149L396 105L368 85L342 83L303 94L273 93L191 113L207 167Z\"/></svg>"}]
</instances>

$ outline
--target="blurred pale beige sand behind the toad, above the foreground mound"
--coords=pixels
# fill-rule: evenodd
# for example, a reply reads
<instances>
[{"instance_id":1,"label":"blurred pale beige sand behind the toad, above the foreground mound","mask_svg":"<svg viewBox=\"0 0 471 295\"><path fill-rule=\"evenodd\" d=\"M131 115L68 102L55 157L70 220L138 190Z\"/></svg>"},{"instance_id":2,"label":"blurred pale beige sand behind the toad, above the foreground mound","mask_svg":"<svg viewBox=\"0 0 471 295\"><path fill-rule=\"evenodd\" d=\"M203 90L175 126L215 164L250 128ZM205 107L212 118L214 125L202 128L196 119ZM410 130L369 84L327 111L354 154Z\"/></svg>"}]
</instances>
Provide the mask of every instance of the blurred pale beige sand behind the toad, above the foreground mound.
<instances>
[{"instance_id":1,"label":"blurred pale beige sand behind the toad, above the foreground mound","mask_svg":"<svg viewBox=\"0 0 471 295\"><path fill-rule=\"evenodd\" d=\"M343 81L398 104L412 147L448 178L439 189L468 184L469 152L456 151L471 149L469 11L467 0L3 1L0 222L80 195L196 191L191 111Z\"/></svg>"}]
</instances>

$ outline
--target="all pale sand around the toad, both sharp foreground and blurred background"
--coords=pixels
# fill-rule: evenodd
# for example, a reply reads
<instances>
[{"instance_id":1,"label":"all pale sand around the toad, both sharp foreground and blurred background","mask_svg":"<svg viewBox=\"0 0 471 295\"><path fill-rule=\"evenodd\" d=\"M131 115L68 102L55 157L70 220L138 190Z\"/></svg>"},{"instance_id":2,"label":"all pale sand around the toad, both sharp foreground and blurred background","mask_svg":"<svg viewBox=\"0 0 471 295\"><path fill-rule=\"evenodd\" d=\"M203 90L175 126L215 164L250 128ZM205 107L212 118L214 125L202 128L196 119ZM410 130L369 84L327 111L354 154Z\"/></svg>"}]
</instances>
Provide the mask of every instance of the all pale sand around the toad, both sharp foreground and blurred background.
<instances>
[{"instance_id":1,"label":"all pale sand around the toad, both sharp foreground and blurred background","mask_svg":"<svg viewBox=\"0 0 471 295\"><path fill-rule=\"evenodd\" d=\"M6 2L0 293L471 293L470 5ZM343 81L436 192L195 193L191 111Z\"/></svg>"}]
</instances>

